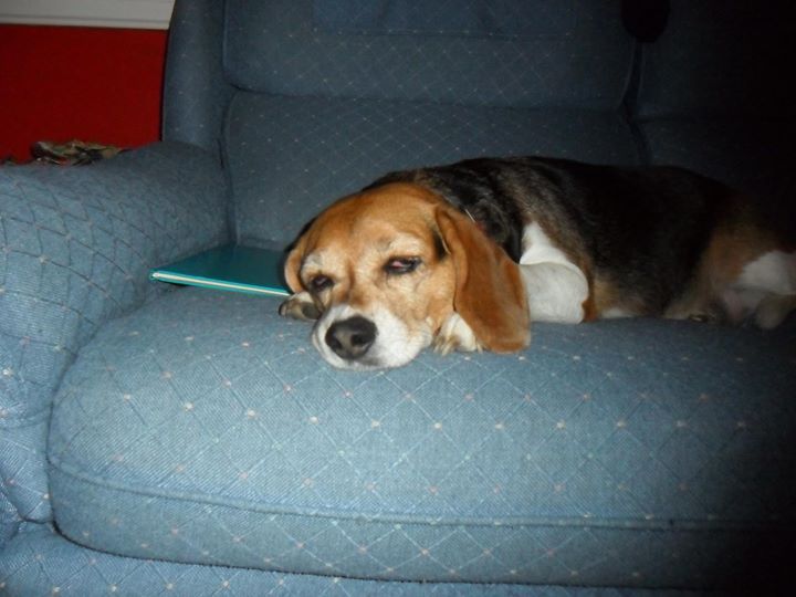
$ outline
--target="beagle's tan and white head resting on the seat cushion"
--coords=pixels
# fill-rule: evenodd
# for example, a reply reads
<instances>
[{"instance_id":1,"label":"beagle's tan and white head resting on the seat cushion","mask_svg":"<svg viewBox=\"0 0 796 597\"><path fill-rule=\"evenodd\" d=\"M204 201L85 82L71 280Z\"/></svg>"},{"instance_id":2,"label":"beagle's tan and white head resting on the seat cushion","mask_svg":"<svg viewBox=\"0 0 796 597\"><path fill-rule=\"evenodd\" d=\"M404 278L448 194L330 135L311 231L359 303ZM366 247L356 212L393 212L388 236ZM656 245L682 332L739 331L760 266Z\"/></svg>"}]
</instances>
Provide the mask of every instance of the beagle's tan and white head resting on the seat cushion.
<instances>
[{"instance_id":1,"label":"beagle's tan and white head resting on the seat cushion","mask_svg":"<svg viewBox=\"0 0 796 597\"><path fill-rule=\"evenodd\" d=\"M285 279L318 315L313 343L337 367L397 367L432 342L513 352L530 337L516 263L419 185L334 203L296 241Z\"/></svg>"}]
</instances>

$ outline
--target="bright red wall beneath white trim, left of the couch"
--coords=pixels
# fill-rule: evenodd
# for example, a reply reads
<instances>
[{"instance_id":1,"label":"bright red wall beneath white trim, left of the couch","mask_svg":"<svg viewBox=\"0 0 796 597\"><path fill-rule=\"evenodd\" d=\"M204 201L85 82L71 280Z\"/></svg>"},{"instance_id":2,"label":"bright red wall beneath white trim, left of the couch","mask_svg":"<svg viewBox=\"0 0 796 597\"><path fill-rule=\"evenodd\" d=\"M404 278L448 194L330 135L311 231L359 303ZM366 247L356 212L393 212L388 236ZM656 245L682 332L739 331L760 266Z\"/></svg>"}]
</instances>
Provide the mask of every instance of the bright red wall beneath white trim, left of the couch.
<instances>
[{"instance_id":1,"label":"bright red wall beneath white trim, left of the couch","mask_svg":"<svg viewBox=\"0 0 796 597\"><path fill-rule=\"evenodd\" d=\"M165 55L165 31L0 25L0 160L36 140L157 140Z\"/></svg>"}]
</instances>

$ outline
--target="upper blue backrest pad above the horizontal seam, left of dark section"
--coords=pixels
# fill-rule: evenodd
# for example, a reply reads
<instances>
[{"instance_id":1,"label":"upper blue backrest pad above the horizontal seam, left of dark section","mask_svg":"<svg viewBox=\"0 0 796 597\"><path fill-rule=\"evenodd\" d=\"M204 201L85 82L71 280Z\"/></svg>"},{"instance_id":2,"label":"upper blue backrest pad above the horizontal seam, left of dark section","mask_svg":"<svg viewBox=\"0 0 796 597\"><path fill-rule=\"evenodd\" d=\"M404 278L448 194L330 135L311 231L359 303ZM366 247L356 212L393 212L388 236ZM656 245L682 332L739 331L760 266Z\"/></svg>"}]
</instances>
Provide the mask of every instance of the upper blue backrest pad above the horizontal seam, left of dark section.
<instances>
[{"instance_id":1,"label":"upper blue backrest pad above the horizontal seam, left of dark section","mask_svg":"<svg viewBox=\"0 0 796 597\"><path fill-rule=\"evenodd\" d=\"M450 104L619 106L633 40L611 2L227 2L244 90Z\"/></svg>"}]
</instances>

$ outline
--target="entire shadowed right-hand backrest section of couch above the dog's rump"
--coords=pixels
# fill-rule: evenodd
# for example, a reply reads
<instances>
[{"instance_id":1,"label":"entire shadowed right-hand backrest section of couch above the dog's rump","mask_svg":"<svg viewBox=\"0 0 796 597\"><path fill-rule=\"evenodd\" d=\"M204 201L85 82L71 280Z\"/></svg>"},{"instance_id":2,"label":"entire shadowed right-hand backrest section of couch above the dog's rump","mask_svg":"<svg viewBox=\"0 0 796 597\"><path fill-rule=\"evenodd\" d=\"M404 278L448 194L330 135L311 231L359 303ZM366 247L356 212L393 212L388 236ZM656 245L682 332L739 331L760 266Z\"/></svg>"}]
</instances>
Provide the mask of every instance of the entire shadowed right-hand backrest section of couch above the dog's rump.
<instances>
[{"instance_id":1,"label":"entire shadowed right-hand backrest section of couch above the dog's rump","mask_svg":"<svg viewBox=\"0 0 796 597\"><path fill-rule=\"evenodd\" d=\"M646 158L790 209L796 4L670 0L663 33L641 56L633 122Z\"/></svg>"}]
</instances>

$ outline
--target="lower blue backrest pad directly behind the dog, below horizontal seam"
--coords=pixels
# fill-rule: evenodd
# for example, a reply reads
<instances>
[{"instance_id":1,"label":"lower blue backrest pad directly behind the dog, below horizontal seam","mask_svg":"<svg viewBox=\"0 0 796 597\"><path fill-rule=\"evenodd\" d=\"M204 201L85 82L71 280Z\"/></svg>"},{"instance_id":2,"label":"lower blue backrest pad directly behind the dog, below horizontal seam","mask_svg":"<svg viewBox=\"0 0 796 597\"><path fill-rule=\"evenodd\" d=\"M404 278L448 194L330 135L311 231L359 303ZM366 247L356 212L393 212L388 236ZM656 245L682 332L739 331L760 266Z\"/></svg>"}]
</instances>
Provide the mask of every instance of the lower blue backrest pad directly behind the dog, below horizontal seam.
<instances>
[{"instance_id":1,"label":"lower blue backrest pad directly behind the dog, below horizontal seam","mask_svg":"<svg viewBox=\"0 0 796 597\"><path fill-rule=\"evenodd\" d=\"M286 244L312 214L390 170L510 154L638 161L614 112L251 93L235 95L224 145L238 234L251 244Z\"/></svg>"}]
</instances>

